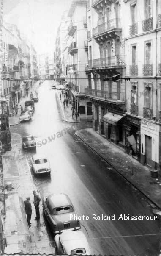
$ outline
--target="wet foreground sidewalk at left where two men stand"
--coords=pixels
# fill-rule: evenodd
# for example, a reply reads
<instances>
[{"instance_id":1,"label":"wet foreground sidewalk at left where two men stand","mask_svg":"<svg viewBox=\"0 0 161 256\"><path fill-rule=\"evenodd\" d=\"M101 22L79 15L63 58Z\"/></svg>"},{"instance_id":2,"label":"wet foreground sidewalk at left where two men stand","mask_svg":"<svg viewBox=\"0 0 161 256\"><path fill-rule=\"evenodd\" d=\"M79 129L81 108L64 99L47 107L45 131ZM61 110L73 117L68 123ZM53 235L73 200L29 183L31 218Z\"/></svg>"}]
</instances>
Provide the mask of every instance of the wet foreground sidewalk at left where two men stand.
<instances>
[{"instance_id":1,"label":"wet foreground sidewalk at left where two men stand","mask_svg":"<svg viewBox=\"0 0 161 256\"><path fill-rule=\"evenodd\" d=\"M5 189L6 218L4 220L4 236L7 239L5 253L46 253L54 254L44 225L42 203L40 203L40 220L35 221L33 206L33 190L36 190L30 173L26 156L22 153L21 136L11 134L12 150L4 153L4 183L12 183L11 191ZM31 227L27 219L23 201L30 196L32 204Z\"/></svg>"}]
</instances>

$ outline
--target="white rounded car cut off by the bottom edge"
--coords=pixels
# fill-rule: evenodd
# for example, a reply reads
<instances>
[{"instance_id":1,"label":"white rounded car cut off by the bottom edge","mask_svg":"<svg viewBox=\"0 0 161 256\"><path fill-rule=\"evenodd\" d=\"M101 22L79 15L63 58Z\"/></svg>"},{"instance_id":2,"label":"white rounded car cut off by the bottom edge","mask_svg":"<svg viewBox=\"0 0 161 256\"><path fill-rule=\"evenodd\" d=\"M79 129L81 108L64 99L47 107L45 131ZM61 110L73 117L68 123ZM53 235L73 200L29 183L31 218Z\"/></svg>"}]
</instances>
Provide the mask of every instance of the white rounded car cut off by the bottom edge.
<instances>
[{"instance_id":1,"label":"white rounded car cut off by the bottom edge","mask_svg":"<svg viewBox=\"0 0 161 256\"><path fill-rule=\"evenodd\" d=\"M87 238L81 230L66 230L54 238L56 254L91 255Z\"/></svg>"}]
</instances>

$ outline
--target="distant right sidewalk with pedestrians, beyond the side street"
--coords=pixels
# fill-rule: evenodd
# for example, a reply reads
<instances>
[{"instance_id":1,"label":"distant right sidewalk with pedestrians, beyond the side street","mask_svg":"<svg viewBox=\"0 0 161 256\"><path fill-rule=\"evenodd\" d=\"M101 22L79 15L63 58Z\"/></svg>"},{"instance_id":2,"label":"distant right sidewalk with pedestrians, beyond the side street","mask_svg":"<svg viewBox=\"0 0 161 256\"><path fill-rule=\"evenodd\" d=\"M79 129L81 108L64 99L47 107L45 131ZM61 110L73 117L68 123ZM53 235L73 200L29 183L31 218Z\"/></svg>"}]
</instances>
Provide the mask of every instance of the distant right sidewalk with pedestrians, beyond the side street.
<instances>
[{"instance_id":1,"label":"distant right sidewalk with pedestrians, beyond the side street","mask_svg":"<svg viewBox=\"0 0 161 256\"><path fill-rule=\"evenodd\" d=\"M68 103L68 106L65 105L65 108L64 108L63 97L61 97L61 100L60 100L60 93L61 93L61 90L59 92L57 92L57 99L61 106L64 120L66 122L92 122L92 121L87 121L87 120L80 120L79 117L78 117L78 120L76 120L76 117L74 117L74 119L72 119L71 104Z\"/></svg>"}]
</instances>

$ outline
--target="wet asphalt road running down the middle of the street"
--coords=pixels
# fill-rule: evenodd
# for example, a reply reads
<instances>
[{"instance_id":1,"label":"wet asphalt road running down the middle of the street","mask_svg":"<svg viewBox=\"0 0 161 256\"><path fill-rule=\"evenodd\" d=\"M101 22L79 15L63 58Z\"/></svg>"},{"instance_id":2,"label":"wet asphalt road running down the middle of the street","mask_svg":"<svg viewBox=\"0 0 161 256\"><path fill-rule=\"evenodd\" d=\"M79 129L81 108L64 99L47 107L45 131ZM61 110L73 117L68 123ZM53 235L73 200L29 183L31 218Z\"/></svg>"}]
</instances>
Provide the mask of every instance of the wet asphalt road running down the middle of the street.
<instances>
[{"instance_id":1,"label":"wet asphalt road running down the middle of the street","mask_svg":"<svg viewBox=\"0 0 161 256\"><path fill-rule=\"evenodd\" d=\"M153 206L74 135L91 123L66 123L56 90L51 90L49 83L45 81L39 89L33 120L11 127L22 136L36 136L37 153L49 158L51 177L33 176L41 196L66 193L78 215L89 217L80 222L92 254L157 256L160 220L118 220L120 214L153 217ZM55 139L49 142L52 136ZM115 220L92 220L93 214L113 216ZM49 236L52 240L50 232Z\"/></svg>"}]
</instances>

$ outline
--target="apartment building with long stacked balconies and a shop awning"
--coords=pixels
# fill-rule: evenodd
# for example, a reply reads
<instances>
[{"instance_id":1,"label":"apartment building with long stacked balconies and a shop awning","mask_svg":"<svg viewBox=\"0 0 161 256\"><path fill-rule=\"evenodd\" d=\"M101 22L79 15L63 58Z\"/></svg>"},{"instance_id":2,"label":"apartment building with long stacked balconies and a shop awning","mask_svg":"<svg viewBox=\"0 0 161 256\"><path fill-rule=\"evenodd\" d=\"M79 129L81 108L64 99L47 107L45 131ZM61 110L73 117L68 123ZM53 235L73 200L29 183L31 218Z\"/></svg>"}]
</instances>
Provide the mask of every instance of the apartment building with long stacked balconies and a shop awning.
<instances>
[{"instance_id":1,"label":"apartment building with long stacked balconies and a shop awning","mask_svg":"<svg viewBox=\"0 0 161 256\"><path fill-rule=\"evenodd\" d=\"M93 129L115 144L125 144L125 42L123 0L87 1L88 86ZM113 77L109 81L104 79Z\"/></svg>"}]
</instances>

